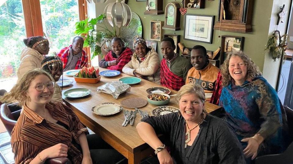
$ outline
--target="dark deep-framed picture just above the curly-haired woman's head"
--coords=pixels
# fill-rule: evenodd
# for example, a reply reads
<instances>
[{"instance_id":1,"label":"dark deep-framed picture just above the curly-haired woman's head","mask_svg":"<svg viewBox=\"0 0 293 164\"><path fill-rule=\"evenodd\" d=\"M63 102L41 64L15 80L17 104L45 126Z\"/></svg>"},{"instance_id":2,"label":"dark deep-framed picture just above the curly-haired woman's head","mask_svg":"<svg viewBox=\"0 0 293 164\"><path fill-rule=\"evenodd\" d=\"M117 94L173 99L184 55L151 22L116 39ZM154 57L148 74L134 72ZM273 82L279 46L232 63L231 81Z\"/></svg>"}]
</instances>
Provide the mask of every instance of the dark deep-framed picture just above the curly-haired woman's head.
<instances>
[{"instance_id":1,"label":"dark deep-framed picture just above the curly-haired woman's head","mask_svg":"<svg viewBox=\"0 0 293 164\"><path fill-rule=\"evenodd\" d=\"M226 59L227 55L232 51L242 51L244 44L244 37L242 36L230 36L223 35L221 42L221 55L220 62L221 64Z\"/></svg>"}]
</instances>

